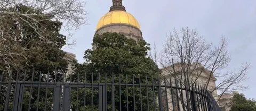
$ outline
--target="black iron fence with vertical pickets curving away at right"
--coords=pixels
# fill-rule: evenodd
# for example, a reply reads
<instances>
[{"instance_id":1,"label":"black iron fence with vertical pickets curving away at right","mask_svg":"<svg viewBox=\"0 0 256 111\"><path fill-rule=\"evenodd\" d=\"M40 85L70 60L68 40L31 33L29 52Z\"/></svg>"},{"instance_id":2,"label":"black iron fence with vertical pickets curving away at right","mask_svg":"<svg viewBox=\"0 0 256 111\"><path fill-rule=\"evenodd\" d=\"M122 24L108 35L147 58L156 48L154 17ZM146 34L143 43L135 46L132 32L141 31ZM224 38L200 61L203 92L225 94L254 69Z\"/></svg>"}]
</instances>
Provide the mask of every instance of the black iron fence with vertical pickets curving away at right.
<instances>
[{"instance_id":1,"label":"black iron fence with vertical pickets curving away at right","mask_svg":"<svg viewBox=\"0 0 256 111\"><path fill-rule=\"evenodd\" d=\"M2 73L0 93L0 110L4 111L221 111L201 85L183 87L178 80L159 76Z\"/></svg>"}]
</instances>

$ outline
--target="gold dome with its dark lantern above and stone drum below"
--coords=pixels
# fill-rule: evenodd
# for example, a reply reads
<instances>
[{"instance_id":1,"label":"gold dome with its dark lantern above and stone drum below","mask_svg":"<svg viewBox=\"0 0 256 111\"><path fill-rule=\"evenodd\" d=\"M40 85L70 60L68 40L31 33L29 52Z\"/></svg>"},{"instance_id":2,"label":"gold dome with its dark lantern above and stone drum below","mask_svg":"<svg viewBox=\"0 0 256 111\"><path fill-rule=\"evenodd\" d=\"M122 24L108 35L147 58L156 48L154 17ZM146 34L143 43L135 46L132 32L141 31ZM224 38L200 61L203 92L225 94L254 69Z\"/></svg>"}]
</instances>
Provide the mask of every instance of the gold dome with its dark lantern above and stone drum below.
<instances>
[{"instance_id":1,"label":"gold dome with its dark lantern above and stone drum below","mask_svg":"<svg viewBox=\"0 0 256 111\"><path fill-rule=\"evenodd\" d=\"M123 0L112 0L112 2L113 5L109 12L99 20L95 34L117 32L122 33L127 38L142 39L140 24L132 14L126 12Z\"/></svg>"}]
</instances>

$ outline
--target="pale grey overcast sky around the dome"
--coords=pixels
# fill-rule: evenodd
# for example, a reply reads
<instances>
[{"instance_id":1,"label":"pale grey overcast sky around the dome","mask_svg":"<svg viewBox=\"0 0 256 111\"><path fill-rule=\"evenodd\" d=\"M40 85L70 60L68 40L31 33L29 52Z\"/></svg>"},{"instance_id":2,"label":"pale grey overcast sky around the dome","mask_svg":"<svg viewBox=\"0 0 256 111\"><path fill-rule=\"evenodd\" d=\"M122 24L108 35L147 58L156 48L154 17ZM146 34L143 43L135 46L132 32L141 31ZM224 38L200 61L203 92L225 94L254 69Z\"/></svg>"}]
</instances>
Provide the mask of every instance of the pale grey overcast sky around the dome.
<instances>
[{"instance_id":1,"label":"pale grey overcast sky around the dome","mask_svg":"<svg viewBox=\"0 0 256 111\"><path fill-rule=\"evenodd\" d=\"M85 0L88 25L82 25L74 32L71 40L74 47L63 50L76 54L79 63L83 63L84 51L92 48L92 39L99 19L109 11L111 0ZM221 35L228 41L231 61L227 70L238 69L242 63L251 62L243 82L248 90L239 91L246 98L256 99L256 1L255 0L123 0L126 11L140 23L142 37L149 44L162 49L166 35L170 31L188 27L197 29L199 35L208 42L218 44ZM65 32L64 32L65 33Z\"/></svg>"}]
</instances>

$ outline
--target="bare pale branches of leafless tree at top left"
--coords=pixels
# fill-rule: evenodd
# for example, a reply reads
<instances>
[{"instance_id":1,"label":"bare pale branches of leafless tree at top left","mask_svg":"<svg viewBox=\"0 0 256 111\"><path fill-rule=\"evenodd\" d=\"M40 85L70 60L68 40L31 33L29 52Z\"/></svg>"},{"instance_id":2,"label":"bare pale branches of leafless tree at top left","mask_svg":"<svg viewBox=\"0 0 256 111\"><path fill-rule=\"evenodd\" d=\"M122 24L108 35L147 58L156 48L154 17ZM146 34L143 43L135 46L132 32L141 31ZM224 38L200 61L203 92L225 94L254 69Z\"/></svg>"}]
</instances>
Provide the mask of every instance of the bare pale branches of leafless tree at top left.
<instances>
[{"instance_id":1,"label":"bare pale branches of leafless tree at top left","mask_svg":"<svg viewBox=\"0 0 256 111\"><path fill-rule=\"evenodd\" d=\"M73 45L67 42L71 31L87 24L85 3L79 0L1 0L0 1L0 70L19 69L30 64L28 58L40 58L40 47ZM49 21L55 22L49 27ZM61 29L59 25L62 26ZM27 30L24 30L24 29ZM51 30L51 31L49 31ZM52 38L67 31L65 41ZM31 37L30 37L31 36ZM31 39L33 38L33 39ZM35 42L33 40L39 40ZM32 48L31 48L32 47ZM25 63L25 64L24 64Z\"/></svg>"}]
</instances>

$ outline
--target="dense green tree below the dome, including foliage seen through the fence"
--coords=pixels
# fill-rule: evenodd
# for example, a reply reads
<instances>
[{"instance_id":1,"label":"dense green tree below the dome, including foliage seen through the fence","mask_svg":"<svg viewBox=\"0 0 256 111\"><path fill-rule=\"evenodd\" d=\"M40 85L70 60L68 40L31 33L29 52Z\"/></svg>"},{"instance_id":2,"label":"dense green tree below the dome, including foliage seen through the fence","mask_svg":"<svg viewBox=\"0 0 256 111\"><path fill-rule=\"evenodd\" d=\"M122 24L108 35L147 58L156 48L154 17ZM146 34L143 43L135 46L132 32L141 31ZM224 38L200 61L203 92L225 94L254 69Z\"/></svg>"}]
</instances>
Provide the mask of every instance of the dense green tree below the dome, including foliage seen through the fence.
<instances>
[{"instance_id":1,"label":"dense green tree below the dome, including foliage seen through the fence","mask_svg":"<svg viewBox=\"0 0 256 111\"><path fill-rule=\"evenodd\" d=\"M146 84L146 76L148 84L151 84L152 79L157 80L157 75L160 70L158 66L154 63L152 59L148 57L148 51L150 50L149 44L145 40L135 41L133 39L127 39L124 35L118 33L106 32L102 35L95 35L93 38L93 44L96 49L87 49L84 54L85 63L76 64L75 75L72 75L73 81L77 81L79 74L79 81L105 83L105 77L107 83L119 83L119 78L121 83L132 84L134 77L134 84L139 84L139 78L141 79L141 84ZM92 76L93 75L93 76ZM86 78L85 78L86 76ZM127 77L127 78L126 78ZM70 78L69 78L70 79ZM113 80L112 80L113 79ZM86 80L86 81L85 81ZM156 81L155 81L156 82ZM111 110L111 86L107 87L107 108ZM142 109L147 108L147 95L146 88L141 88L141 98L139 87L135 87L133 97L133 88L128 87L126 91L125 86L115 86L115 108L119 110L120 103L122 110L133 110L133 98L135 98L135 109L140 110L142 101ZM83 93L83 89L79 90L79 93ZM121 95L119 95L121 91ZM155 90L156 91L156 90ZM86 92L86 108L91 108L91 91ZM76 95L76 91L72 92ZM98 92L93 92L94 100L98 101ZM153 103L153 88L148 89L149 95L149 107L150 110L155 110ZM80 94L79 94L80 95ZM128 95L129 106L126 105L126 95ZM121 96L121 101L120 97ZM157 95L155 95L157 97ZM79 96L79 101L83 101L83 95ZM75 101L77 98L73 97L71 100ZM156 98L155 98L156 100ZM94 102L93 102L94 103ZM73 107L71 109L76 110L77 103L71 103ZM79 109L83 109L84 104L80 104ZM94 110L98 110L97 102L94 103Z\"/></svg>"}]
</instances>

